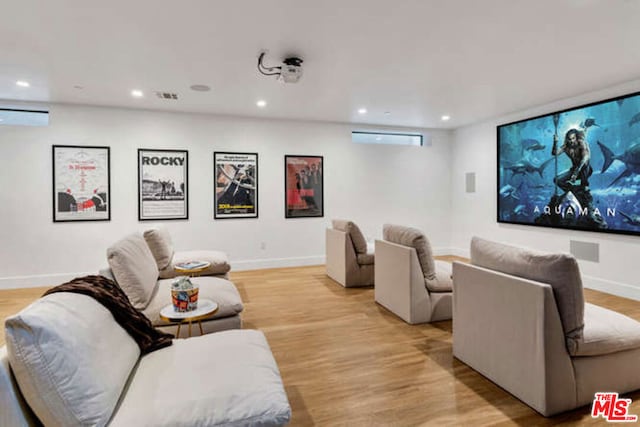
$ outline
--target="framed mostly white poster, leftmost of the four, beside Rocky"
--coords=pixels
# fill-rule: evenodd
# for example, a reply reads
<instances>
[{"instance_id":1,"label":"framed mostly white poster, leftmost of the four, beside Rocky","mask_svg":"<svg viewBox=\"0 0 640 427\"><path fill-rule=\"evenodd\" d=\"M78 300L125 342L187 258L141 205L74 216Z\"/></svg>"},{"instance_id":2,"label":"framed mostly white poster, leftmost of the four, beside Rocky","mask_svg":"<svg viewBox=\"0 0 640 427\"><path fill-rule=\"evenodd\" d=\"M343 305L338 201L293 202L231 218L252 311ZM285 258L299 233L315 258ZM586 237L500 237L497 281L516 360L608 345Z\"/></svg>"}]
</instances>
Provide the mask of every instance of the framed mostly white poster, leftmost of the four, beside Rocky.
<instances>
[{"instance_id":1,"label":"framed mostly white poster, leftmost of the four, beside Rocky","mask_svg":"<svg viewBox=\"0 0 640 427\"><path fill-rule=\"evenodd\" d=\"M109 147L54 145L53 221L109 221Z\"/></svg>"}]
</instances>

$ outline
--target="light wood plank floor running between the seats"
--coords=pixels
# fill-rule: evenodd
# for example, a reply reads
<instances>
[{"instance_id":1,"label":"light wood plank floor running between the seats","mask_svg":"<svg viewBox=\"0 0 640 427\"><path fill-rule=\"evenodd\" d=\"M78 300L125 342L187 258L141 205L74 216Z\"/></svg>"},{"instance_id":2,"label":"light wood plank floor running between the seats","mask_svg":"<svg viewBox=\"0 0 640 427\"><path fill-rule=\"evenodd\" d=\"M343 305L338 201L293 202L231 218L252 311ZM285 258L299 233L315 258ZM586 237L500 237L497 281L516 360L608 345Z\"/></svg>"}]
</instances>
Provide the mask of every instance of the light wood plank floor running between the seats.
<instances>
[{"instance_id":1,"label":"light wood plank floor running between the seats","mask_svg":"<svg viewBox=\"0 0 640 427\"><path fill-rule=\"evenodd\" d=\"M451 259L451 258L450 258ZM293 410L292 426L606 424L589 407L544 418L451 353L451 321L412 326L345 289L324 266L234 272L244 327L264 331ZM45 288L0 291L0 322ZM585 290L640 320L640 302ZM0 345L4 331L0 332ZM640 392L630 413L640 415Z\"/></svg>"}]
</instances>

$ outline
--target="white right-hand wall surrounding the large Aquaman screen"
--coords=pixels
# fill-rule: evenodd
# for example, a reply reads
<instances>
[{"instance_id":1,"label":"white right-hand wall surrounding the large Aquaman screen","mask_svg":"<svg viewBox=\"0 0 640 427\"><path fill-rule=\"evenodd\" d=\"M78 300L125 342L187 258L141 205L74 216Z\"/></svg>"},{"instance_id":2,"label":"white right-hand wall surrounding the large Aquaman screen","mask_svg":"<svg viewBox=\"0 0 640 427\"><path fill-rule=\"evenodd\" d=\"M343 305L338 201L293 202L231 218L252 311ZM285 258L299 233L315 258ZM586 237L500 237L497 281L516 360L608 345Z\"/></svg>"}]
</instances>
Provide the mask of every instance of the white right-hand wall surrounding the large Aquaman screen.
<instances>
[{"instance_id":1,"label":"white right-hand wall surrounding the large Aquaman screen","mask_svg":"<svg viewBox=\"0 0 640 427\"><path fill-rule=\"evenodd\" d=\"M598 243L600 261L580 261L585 286L640 300L640 237L496 222L497 125L638 90L640 81L629 82L456 130L451 168L452 246L456 252L468 256L469 241L474 235L544 251L569 252L570 240ZM465 192L466 172L476 173L475 193Z\"/></svg>"}]
</instances>

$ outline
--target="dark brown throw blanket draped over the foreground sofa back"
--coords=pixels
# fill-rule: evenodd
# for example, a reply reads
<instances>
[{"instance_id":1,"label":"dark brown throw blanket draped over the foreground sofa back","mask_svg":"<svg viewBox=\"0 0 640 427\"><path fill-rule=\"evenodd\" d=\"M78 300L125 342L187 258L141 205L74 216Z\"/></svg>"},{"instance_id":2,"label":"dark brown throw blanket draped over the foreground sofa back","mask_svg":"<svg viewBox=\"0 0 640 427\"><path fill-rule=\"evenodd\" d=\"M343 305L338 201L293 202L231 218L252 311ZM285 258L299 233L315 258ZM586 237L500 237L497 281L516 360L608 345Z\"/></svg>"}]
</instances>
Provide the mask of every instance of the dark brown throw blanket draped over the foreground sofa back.
<instances>
[{"instance_id":1,"label":"dark brown throw blanket draped over the foreground sofa back","mask_svg":"<svg viewBox=\"0 0 640 427\"><path fill-rule=\"evenodd\" d=\"M106 277L78 277L49 289L43 296L54 292L75 292L94 298L113 314L116 322L138 343L143 355L172 344L173 335L155 329L151 321L131 305L122 288Z\"/></svg>"}]
</instances>

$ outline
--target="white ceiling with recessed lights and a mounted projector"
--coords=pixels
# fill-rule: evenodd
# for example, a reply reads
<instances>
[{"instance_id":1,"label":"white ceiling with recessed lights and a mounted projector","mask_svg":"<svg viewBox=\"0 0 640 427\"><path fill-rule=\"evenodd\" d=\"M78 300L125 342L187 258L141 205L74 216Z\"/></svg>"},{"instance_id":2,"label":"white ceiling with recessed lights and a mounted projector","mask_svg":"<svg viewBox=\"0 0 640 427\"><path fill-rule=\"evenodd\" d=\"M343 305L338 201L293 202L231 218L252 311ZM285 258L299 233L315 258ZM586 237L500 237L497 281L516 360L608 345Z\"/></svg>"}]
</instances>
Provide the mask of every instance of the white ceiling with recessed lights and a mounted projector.
<instances>
[{"instance_id":1,"label":"white ceiling with recessed lights and a mounted projector","mask_svg":"<svg viewBox=\"0 0 640 427\"><path fill-rule=\"evenodd\" d=\"M453 128L639 78L639 23L635 0L3 0L0 99Z\"/></svg>"}]
</instances>

